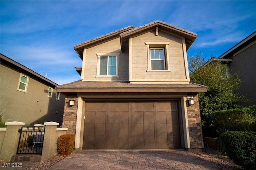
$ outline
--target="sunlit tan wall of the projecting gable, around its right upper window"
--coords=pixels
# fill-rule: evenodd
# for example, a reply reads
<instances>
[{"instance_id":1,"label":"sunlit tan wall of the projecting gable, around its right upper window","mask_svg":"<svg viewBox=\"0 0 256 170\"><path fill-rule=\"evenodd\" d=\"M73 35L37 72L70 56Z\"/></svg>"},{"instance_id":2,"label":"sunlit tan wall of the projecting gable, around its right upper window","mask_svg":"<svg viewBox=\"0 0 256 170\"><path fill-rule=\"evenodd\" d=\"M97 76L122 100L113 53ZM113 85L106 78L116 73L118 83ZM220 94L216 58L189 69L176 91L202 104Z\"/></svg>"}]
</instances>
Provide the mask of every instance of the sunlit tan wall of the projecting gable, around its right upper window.
<instances>
[{"instance_id":1,"label":"sunlit tan wall of the projecting gable, around its right upper window","mask_svg":"<svg viewBox=\"0 0 256 170\"><path fill-rule=\"evenodd\" d=\"M169 42L168 54L170 72L147 72L148 53L145 42ZM132 37L132 79L143 81L173 81L174 79L187 79L184 60L182 37L168 34L162 31L155 35L155 31ZM130 54L131 55L131 54ZM131 77L130 77L131 79ZM161 80L162 79L162 80ZM170 80L172 79L172 80Z\"/></svg>"}]
</instances>

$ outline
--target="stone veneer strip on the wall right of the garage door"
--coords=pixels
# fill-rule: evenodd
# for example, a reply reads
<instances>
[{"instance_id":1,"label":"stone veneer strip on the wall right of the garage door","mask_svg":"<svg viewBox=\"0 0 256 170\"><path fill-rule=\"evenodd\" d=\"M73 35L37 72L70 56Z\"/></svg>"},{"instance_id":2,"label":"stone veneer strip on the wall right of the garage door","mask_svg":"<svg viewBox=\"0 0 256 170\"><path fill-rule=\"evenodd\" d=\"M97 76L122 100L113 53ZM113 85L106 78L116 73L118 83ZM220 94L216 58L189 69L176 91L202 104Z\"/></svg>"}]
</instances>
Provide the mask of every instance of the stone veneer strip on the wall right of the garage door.
<instances>
[{"instance_id":1,"label":"stone veneer strip on the wall right of the garage door","mask_svg":"<svg viewBox=\"0 0 256 170\"><path fill-rule=\"evenodd\" d=\"M188 95L192 96L193 94L188 94ZM194 96L194 105L188 105L188 102L187 102L190 148L200 149L204 147L201 117L200 117L200 110L199 110L198 95L194 94L193 96ZM189 100L189 99L186 98L186 100Z\"/></svg>"}]
</instances>

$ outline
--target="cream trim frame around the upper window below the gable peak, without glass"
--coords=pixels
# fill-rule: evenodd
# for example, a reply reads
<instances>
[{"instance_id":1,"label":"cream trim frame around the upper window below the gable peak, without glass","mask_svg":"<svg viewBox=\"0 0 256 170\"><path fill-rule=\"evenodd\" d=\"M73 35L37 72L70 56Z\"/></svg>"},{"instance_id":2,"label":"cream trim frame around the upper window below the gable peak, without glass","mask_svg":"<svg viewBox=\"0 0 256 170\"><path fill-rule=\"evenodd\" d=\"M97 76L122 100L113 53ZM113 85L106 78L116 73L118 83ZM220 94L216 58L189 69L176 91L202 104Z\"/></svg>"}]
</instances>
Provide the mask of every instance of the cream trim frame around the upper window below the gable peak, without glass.
<instances>
[{"instance_id":1,"label":"cream trim frame around the upper window below the gable peak, without glass","mask_svg":"<svg viewBox=\"0 0 256 170\"><path fill-rule=\"evenodd\" d=\"M147 51L148 51L148 70L147 72L170 72L170 62L169 62L169 49L168 45L170 42L145 42L147 45ZM151 69L151 59L150 59L150 47L154 48L154 45L156 45L156 48L163 48L164 49L164 57L165 57L165 70L152 70Z\"/></svg>"}]
</instances>

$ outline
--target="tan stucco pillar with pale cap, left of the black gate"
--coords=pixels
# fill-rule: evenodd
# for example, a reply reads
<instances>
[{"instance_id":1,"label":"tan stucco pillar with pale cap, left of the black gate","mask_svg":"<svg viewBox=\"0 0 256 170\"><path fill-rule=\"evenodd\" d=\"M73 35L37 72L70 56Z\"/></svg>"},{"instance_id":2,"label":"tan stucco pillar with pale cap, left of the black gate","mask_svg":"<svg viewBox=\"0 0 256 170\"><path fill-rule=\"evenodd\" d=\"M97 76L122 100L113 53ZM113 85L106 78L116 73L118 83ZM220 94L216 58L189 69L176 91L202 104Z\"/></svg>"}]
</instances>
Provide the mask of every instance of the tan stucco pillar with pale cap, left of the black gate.
<instances>
[{"instance_id":1,"label":"tan stucco pillar with pale cap, left of the black gate","mask_svg":"<svg viewBox=\"0 0 256 170\"><path fill-rule=\"evenodd\" d=\"M21 129L22 125L25 125L25 123L12 121L6 122L5 125L7 125L7 127L1 149L1 160L10 161L11 157L17 152L20 139L18 130Z\"/></svg>"}]
</instances>

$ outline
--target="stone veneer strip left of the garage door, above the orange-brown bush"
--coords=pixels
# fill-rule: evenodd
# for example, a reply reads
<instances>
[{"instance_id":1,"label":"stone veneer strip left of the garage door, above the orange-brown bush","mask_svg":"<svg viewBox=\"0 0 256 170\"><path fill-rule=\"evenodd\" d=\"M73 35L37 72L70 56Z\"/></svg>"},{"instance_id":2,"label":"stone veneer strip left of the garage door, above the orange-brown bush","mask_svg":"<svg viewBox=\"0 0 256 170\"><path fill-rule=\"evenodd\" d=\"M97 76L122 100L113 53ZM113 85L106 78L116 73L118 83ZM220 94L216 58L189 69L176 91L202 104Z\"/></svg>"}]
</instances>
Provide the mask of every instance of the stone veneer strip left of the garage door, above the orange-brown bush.
<instances>
[{"instance_id":1,"label":"stone veneer strip left of the garage door, above the orange-brown bush","mask_svg":"<svg viewBox=\"0 0 256 170\"><path fill-rule=\"evenodd\" d=\"M74 100L74 106L69 106L69 101ZM77 115L78 97L76 94L66 94L62 127L67 127L67 134L76 134L76 115Z\"/></svg>"}]
</instances>

